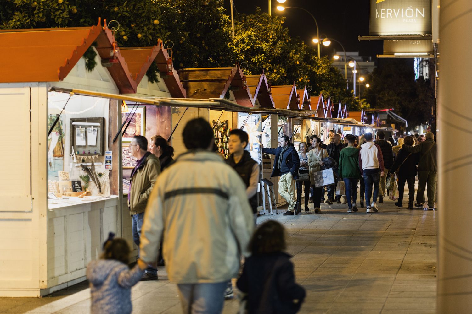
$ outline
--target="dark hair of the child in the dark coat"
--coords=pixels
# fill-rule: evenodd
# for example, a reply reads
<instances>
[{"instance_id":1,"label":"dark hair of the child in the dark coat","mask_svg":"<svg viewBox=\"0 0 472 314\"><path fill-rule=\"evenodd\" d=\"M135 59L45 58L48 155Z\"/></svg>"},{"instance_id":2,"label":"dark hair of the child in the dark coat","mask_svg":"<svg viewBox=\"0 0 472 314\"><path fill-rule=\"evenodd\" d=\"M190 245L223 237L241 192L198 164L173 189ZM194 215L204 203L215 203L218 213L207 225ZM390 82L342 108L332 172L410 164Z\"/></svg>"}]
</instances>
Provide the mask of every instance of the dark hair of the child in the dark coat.
<instances>
[{"instance_id":1,"label":"dark hair of the child in the dark coat","mask_svg":"<svg viewBox=\"0 0 472 314\"><path fill-rule=\"evenodd\" d=\"M269 220L253 233L248 249L253 255L265 255L281 252L286 248L283 225L275 220Z\"/></svg>"}]
</instances>

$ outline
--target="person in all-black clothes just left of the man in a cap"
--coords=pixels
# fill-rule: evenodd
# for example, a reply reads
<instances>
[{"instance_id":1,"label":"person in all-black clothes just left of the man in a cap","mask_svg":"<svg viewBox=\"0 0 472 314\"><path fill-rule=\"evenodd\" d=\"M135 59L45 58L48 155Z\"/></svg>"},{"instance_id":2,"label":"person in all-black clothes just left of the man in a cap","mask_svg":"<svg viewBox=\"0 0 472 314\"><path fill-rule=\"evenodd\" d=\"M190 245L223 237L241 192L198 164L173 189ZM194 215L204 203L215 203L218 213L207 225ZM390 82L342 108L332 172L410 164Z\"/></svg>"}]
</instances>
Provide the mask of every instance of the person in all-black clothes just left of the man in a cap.
<instances>
[{"instance_id":1,"label":"person in all-black clothes just left of the man in a cap","mask_svg":"<svg viewBox=\"0 0 472 314\"><path fill-rule=\"evenodd\" d=\"M405 137L403 147L398 151L395 162L392 165L390 175L394 177L398 169L398 200L395 205L403 207L403 191L405 189L405 181L408 182L408 209L413 209L414 200L414 182L416 176L416 164L418 163L419 153L408 153L404 148L413 146L414 139L411 136Z\"/></svg>"}]
</instances>

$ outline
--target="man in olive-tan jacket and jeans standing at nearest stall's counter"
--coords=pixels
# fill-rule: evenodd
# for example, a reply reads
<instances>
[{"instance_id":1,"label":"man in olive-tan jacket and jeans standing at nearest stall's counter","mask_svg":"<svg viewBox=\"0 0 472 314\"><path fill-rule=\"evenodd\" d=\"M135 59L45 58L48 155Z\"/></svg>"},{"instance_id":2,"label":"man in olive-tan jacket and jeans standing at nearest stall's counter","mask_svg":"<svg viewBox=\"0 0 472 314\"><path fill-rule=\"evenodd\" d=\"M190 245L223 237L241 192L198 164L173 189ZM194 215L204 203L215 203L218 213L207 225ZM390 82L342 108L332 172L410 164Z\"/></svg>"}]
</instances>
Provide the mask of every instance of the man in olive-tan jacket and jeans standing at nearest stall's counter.
<instances>
[{"instance_id":1,"label":"man in olive-tan jacket and jeans standing at nearest stall's counter","mask_svg":"<svg viewBox=\"0 0 472 314\"><path fill-rule=\"evenodd\" d=\"M157 176L160 174L160 161L154 154L147 151L146 137L136 135L130 143L131 154L138 159L131 172L131 185L128 193L129 214L133 219L133 241L140 244L141 229L144 220L144 209L152 192ZM156 280L157 265L149 265L141 280Z\"/></svg>"}]
</instances>

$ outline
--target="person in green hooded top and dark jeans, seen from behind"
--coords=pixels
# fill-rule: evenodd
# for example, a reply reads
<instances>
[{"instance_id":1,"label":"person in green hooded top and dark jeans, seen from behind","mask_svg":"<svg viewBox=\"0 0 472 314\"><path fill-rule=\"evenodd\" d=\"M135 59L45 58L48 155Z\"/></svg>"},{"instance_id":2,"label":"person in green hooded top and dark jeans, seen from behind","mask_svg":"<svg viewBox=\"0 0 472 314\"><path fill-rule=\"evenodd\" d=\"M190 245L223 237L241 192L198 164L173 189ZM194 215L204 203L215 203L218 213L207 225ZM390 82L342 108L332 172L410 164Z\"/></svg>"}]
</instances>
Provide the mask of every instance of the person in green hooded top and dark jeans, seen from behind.
<instances>
[{"instance_id":1,"label":"person in green hooded top and dark jeans, seen from behind","mask_svg":"<svg viewBox=\"0 0 472 314\"><path fill-rule=\"evenodd\" d=\"M347 212L352 213L353 211L357 211L357 182L361 177L361 171L358 166L359 150L354 147L355 136L348 134L345 138L347 139L348 146L341 150L338 170L346 186Z\"/></svg>"}]
</instances>

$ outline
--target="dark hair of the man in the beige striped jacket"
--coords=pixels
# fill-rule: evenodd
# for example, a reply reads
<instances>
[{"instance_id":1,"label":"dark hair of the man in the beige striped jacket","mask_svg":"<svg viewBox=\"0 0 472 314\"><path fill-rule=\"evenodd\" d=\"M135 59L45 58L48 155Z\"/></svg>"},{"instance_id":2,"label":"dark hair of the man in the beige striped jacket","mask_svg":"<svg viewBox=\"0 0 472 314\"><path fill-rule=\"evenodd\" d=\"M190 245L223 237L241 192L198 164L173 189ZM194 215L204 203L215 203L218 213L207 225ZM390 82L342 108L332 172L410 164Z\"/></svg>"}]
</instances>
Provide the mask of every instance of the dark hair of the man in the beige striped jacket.
<instances>
[{"instance_id":1,"label":"dark hair of the man in the beige striped jacket","mask_svg":"<svg viewBox=\"0 0 472 314\"><path fill-rule=\"evenodd\" d=\"M185 148L188 150L208 149L213 140L213 129L203 118L192 119L185 125L182 137L184 137Z\"/></svg>"}]
</instances>

